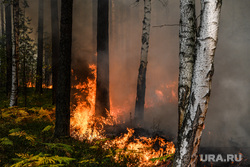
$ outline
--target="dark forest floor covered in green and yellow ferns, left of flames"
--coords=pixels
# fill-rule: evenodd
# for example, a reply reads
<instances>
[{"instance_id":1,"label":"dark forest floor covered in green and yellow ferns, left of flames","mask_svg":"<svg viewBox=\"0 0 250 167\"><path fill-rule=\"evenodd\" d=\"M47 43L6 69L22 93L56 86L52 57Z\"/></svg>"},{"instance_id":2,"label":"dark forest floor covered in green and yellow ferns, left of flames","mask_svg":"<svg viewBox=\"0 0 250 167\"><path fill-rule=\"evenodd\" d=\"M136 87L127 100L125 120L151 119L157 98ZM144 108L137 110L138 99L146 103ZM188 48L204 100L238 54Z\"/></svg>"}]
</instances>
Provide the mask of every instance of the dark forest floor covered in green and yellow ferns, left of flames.
<instances>
[{"instance_id":1,"label":"dark forest floor covered in green and yellow ferns, left of flames","mask_svg":"<svg viewBox=\"0 0 250 167\"><path fill-rule=\"evenodd\" d=\"M22 93L19 107L8 107L9 100L0 90L0 166L138 166L139 159L128 155L115 160L119 150L104 150L103 140L55 139L52 91L46 89L42 95L34 91L28 88L27 107Z\"/></svg>"}]
</instances>

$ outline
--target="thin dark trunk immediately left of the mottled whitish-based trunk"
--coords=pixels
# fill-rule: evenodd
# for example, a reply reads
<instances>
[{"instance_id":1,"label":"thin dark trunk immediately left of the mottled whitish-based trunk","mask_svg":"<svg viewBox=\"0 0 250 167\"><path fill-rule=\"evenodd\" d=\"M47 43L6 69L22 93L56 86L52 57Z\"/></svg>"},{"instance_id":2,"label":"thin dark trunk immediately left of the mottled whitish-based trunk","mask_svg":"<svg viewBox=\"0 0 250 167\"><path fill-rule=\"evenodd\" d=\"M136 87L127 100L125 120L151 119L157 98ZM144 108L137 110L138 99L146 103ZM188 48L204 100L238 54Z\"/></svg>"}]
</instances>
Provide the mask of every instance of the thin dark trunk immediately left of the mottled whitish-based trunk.
<instances>
[{"instance_id":1,"label":"thin dark trunk immediately left of the mottled whitish-based trunk","mask_svg":"<svg viewBox=\"0 0 250 167\"><path fill-rule=\"evenodd\" d=\"M7 75L6 75L6 94L9 96L12 84L12 21L11 21L11 1L5 3L5 23L6 23L6 57L7 57Z\"/></svg>"}]
</instances>

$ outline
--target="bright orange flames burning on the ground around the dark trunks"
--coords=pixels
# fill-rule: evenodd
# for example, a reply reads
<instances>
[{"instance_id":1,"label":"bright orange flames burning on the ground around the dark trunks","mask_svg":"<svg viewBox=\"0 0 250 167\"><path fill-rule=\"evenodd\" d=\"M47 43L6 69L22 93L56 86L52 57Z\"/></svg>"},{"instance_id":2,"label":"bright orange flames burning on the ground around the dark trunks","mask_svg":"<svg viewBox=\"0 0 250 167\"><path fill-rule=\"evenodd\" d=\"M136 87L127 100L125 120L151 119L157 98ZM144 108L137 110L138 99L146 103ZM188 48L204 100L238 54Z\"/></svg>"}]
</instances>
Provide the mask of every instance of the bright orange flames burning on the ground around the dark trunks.
<instances>
[{"instance_id":1,"label":"bright orange flames burning on the ground around the dark trunks","mask_svg":"<svg viewBox=\"0 0 250 167\"><path fill-rule=\"evenodd\" d=\"M96 66L90 65L92 74L96 78ZM98 139L106 139L104 126L115 126L119 123L117 117L120 110L111 106L111 114L108 118L96 118L95 114L95 97L96 97L96 80L87 79L87 83L80 83L73 86L73 88L86 93L86 101L81 100L78 94L75 94L77 105L72 111L71 116L71 136L83 140L87 139L92 142ZM112 103L111 103L112 105ZM158 160L150 161L154 158L159 158L173 154L175 147L172 142L166 142L163 138L147 138L147 137L134 137L134 130L127 129L127 133L116 137L112 140L105 141L103 149L111 147L117 148L114 159L119 162L119 156L126 155L131 158L139 158L139 166L154 166L159 163ZM155 149L154 146L157 145ZM129 164L128 164L129 166Z\"/></svg>"}]
</instances>

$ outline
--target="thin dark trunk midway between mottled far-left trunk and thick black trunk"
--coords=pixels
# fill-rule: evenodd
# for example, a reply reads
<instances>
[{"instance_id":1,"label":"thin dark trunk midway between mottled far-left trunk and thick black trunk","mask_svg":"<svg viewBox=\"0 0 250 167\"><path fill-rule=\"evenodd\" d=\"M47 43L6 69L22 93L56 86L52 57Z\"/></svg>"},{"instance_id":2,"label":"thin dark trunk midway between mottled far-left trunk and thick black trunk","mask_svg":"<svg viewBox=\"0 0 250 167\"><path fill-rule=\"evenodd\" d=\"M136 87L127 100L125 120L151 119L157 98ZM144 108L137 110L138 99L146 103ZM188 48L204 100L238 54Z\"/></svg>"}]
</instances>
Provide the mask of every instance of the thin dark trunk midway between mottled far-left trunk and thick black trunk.
<instances>
[{"instance_id":1,"label":"thin dark trunk midway between mottled far-left trunk and thick black trunk","mask_svg":"<svg viewBox=\"0 0 250 167\"><path fill-rule=\"evenodd\" d=\"M44 5L43 0L39 0L36 92L40 94L42 93L42 85L43 85L43 17L44 17L43 5Z\"/></svg>"}]
</instances>

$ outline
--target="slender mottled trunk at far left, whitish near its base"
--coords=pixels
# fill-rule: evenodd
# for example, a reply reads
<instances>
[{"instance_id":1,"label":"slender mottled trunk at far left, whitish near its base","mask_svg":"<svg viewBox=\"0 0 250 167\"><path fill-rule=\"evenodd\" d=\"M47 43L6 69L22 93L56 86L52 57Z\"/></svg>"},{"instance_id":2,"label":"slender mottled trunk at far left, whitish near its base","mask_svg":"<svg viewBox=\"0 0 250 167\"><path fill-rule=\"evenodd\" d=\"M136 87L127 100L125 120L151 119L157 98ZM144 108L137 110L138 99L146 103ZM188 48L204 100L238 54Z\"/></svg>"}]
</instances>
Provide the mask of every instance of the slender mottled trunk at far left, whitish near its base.
<instances>
[{"instance_id":1,"label":"slender mottled trunk at far left, whitish near its base","mask_svg":"<svg viewBox=\"0 0 250 167\"><path fill-rule=\"evenodd\" d=\"M13 1L15 53L12 58L12 85L10 107L17 106L18 98L18 63L19 63L19 0Z\"/></svg>"}]
</instances>

